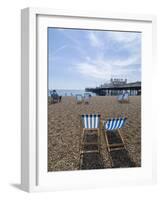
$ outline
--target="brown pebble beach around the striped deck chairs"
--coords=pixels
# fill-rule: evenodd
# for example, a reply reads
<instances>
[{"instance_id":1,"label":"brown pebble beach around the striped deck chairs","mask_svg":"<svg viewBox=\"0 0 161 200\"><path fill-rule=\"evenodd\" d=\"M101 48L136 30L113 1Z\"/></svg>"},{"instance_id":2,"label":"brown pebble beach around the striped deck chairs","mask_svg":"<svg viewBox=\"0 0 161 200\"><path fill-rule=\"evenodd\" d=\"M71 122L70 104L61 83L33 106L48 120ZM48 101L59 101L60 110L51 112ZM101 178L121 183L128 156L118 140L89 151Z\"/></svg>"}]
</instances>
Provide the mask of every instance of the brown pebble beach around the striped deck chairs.
<instances>
[{"instance_id":1,"label":"brown pebble beach around the striped deck chairs","mask_svg":"<svg viewBox=\"0 0 161 200\"><path fill-rule=\"evenodd\" d=\"M48 105L48 171L79 170L81 114L100 113L102 119L127 117L120 130L126 149L136 167L141 166L141 96L130 96L120 103L116 96L93 96L89 104L77 104L75 97L63 96ZM111 168L103 133L101 155L105 168Z\"/></svg>"}]
</instances>

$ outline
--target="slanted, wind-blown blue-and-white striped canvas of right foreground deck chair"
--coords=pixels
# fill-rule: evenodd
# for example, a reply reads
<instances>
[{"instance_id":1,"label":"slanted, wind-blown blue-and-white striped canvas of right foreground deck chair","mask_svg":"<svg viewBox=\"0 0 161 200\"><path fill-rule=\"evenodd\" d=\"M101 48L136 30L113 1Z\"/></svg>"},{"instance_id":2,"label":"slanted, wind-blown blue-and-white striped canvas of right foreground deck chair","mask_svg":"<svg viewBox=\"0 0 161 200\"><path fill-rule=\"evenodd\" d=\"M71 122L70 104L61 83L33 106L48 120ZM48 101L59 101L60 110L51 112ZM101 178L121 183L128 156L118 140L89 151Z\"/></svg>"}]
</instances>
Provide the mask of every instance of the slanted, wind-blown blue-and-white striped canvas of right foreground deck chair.
<instances>
[{"instance_id":1,"label":"slanted, wind-blown blue-and-white striped canvas of right foreground deck chair","mask_svg":"<svg viewBox=\"0 0 161 200\"><path fill-rule=\"evenodd\" d=\"M108 119L107 121L104 122L104 128L105 130L116 130L120 129L125 125L126 118L113 118L113 119Z\"/></svg>"}]
</instances>

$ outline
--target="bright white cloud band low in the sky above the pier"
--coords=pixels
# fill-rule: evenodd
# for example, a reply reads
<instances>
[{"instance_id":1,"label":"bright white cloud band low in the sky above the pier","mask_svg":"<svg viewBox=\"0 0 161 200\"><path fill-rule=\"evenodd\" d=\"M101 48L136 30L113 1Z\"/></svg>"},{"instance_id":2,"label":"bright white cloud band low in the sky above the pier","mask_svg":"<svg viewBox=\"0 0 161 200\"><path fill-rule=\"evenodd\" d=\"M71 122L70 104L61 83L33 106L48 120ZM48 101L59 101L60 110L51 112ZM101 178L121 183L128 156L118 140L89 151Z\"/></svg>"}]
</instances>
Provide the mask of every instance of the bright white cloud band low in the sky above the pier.
<instances>
[{"instance_id":1,"label":"bright white cloud band low in the sky above the pier","mask_svg":"<svg viewBox=\"0 0 161 200\"><path fill-rule=\"evenodd\" d=\"M138 57L133 56L127 59L86 59L85 62L76 64L80 75L101 80L110 80L111 77L124 77L131 79L133 72L140 72ZM136 77L135 77L136 78ZM134 77L133 77L134 79Z\"/></svg>"}]
</instances>

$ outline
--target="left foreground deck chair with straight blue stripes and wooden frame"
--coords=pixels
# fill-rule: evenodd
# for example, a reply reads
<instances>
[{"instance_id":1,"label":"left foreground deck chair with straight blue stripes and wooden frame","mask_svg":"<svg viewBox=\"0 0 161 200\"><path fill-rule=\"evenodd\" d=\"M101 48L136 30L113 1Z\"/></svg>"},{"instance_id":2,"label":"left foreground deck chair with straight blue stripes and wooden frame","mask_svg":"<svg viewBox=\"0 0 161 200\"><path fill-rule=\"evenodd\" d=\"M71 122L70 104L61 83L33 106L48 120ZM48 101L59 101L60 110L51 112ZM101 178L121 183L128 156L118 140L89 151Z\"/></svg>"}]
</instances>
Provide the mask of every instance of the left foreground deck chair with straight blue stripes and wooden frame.
<instances>
[{"instance_id":1,"label":"left foreground deck chair with straight blue stripes and wooden frame","mask_svg":"<svg viewBox=\"0 0 161 200\"><path fill-rule=\"evenodd\" d=\"M100 152L100 114L83 114L81 115L82 121L82 149L85 145L95 145L97 146L94 150L83 151L82 153L92 153L92 152ZM96 140L94 142L85 141L85 135L95 135Z\"/></svg>"}]
</instances>

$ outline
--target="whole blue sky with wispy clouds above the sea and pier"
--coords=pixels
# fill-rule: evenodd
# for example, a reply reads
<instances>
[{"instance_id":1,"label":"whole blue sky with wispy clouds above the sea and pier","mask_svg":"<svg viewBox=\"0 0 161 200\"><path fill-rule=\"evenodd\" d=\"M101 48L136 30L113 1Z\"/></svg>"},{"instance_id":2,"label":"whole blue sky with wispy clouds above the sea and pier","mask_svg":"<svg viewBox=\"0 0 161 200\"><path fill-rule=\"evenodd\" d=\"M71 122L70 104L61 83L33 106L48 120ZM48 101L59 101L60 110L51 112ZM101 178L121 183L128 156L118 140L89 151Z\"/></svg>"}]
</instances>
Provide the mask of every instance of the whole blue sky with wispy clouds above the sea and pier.
<instances>
[{"instance_id":1,"label":"whole blue sky with wispy clouds above the sea and pier","mask_svg":"<svg viewBox=\"0 0 161 200\"><path fill-rule=\"evenodd\" d=\"M48 28L49 89L141 80L141 33Z\"/></svg>"}]
</instances>

